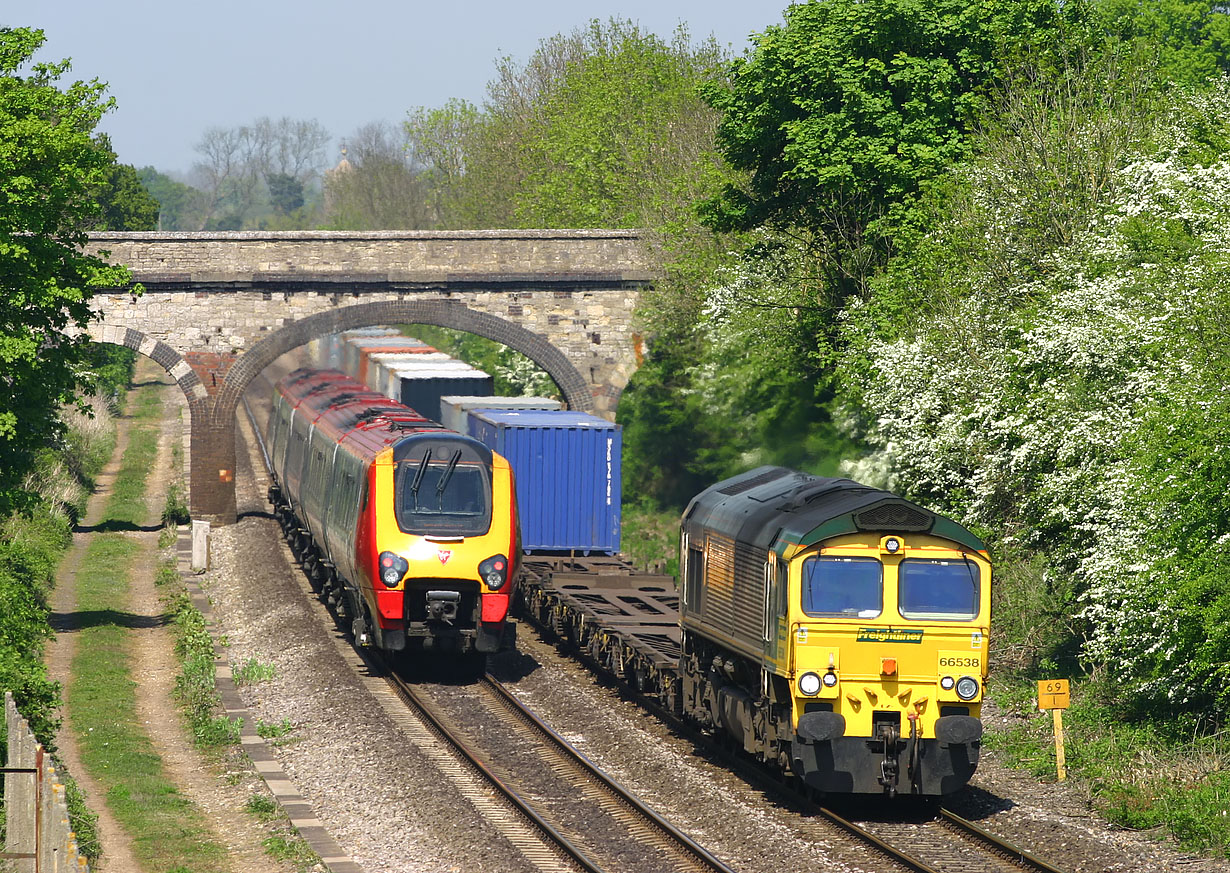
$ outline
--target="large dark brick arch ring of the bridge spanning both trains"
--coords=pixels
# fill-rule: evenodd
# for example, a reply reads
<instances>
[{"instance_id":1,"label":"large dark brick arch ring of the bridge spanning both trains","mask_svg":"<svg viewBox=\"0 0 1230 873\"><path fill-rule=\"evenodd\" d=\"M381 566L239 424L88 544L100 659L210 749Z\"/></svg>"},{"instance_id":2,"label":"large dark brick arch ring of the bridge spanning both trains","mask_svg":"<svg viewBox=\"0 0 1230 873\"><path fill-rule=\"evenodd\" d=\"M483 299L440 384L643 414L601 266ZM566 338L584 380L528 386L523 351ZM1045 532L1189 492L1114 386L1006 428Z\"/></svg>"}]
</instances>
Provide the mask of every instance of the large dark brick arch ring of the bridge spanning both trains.
<instances>
[{"instance_id":1,"label":"large dark brick arch ring of the bridge spanning both trains","mask_svg":"<svg viewBox=\"0 0 1230 873\"><path fill-rule=\"evenodd\" d=\"M232 421L240 397L248 384L279 355L319 337L375 325L451 327L502 343L546 370L571 408L593 412L594 397L589 385L572 361L545 337L487 312L476 312L461 302L397 300L355 304L319 312L284 325L276 333L267 336L245 352L228 370L226 381L214 401L213 421L218 424Z\"/></svg>"}]
</instances>

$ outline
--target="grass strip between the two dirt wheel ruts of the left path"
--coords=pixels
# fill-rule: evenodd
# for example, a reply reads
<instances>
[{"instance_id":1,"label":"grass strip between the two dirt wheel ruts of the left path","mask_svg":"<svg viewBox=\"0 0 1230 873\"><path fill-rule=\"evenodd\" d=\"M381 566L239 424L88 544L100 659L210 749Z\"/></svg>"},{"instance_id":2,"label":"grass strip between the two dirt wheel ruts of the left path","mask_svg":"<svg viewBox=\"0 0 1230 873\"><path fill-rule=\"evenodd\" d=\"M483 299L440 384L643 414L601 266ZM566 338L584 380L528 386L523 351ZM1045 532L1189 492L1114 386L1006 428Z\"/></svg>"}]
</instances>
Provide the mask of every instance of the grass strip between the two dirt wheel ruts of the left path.
<instances>
[{"instance_id":1,"label":"grass strip between the two dirt wheel ruts of the left path","mask_svg":"<svg viewBox=\"0 0 1230 873\"><path fill-rule=\"evenodd\" d=\"M132 427L101 531L140 526L149 515L145 477L157 455L157 387L130 396ZM226 850L209 834L204 814L167 778L137 716L132 676L129 574L145 555L122 532L98 532L77 574L76 653L68 687L71 727L85 768L103 786L107 805L133 839L149 869L196 873L225 866Z\"/></svg>"}]
</instances>

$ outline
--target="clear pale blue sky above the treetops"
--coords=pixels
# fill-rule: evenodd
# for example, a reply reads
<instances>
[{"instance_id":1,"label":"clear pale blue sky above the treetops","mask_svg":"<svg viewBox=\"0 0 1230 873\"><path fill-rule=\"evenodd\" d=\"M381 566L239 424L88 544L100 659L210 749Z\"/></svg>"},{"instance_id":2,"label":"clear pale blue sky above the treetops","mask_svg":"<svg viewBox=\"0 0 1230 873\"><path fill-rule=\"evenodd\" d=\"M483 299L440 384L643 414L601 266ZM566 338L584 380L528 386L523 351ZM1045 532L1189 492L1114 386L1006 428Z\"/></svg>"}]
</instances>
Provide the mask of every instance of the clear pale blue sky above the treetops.
<instances>
[{"instance_id":1,"label":"clear pale blue sky above the treetops","mask_svg":"<svg viewBox=\"0 0 1230 873\"><path fill-rule=\"evenodd\" d=\"M450 97L481 103L496 59L592 18L630 18L669 38L683 22L734 54L782 20L787 0L44 0L0 11L38 27L36 60L69 58L62 80L108 84L100 129L122 164L186 172L208 128L268 116L316 119L337 148L369 122L397 123ZM17 4L14 4L16 7Z\"/></svg>"}]
</instances>

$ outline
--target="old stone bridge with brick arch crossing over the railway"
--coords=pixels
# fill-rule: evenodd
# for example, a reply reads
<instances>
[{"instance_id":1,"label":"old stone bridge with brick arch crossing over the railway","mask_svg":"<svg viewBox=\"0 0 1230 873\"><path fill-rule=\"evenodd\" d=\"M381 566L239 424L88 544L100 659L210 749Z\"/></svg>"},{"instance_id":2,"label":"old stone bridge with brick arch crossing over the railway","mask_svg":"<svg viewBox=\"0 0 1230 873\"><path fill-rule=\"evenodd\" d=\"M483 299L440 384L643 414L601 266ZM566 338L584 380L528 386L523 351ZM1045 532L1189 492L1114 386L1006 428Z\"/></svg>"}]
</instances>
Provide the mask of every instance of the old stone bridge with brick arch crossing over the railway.
<instances>
[{"instance_id":1,"label":"old stone bridge with brick arch crossing over the railway","mask_svg":"<svg viewBox=\"0 0 1230 873\"><path fill-rule=\"evenodd\" d=\"M640 357L632 315L656 278L637 231L91 234L144 293L98 293L93 339L160 364L188 400L193 518L235 520L235 414L245 389L311 339L437 325L503 343L567 403L614 417Z\"/></svg>"}]
</instances>

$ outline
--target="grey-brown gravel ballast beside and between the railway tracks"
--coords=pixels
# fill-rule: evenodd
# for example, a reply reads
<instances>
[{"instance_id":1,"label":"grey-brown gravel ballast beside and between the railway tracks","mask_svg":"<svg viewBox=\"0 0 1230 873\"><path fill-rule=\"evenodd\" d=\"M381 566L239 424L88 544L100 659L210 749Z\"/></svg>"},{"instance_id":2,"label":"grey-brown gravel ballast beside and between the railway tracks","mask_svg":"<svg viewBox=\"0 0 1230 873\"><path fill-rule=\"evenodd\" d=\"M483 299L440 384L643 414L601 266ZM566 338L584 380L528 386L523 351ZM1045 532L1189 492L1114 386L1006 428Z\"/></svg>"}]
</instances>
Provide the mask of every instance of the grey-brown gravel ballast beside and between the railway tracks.
<instances>
[{"instance_id":1,"label":"grey-brown gravel ballast beside and between the railway tracks","mask_svg":"<svg viewBox=\"0 0 1230 873\"><path fill-rule=\"evenodd\" d=\"M244 452L241 452L241 457ZM248 468L245 470L244 467ZM263 482L241 460L239 524L213 535L202 585L232 665L272 664L244 685L253 716L288 719L274 753L342 848L369 873L523 871L529 862L482 820L458 784L410 739L306 582L290 564ZM743 873L878 871L883 861L831 826L766 797L525 626L519 652L491 659L524 703L595 764L699 843ZM1039 783L984 754L954 812L1073 871L1230 872L1168 841L1117 830L1091 815L1080 789Z\"/></svg>"}]
</instances>

